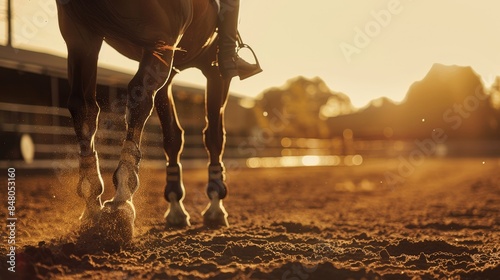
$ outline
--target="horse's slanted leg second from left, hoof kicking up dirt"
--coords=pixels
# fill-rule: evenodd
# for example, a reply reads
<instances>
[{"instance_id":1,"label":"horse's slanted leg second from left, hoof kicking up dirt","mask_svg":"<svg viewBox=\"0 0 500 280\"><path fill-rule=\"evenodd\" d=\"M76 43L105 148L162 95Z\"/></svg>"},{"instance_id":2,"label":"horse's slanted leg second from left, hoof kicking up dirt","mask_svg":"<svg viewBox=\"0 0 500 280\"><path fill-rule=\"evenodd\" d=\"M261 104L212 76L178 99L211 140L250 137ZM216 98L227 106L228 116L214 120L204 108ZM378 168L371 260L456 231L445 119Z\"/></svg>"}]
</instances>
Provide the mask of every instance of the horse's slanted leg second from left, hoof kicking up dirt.
<instances>
[{"instance_id":1,"label":"horse's slanted leg second from left, hoof kicking up dirt","mask_svg":"<svg viewBox=\"0 0 500 280\"><path fill-rule=\"evenodd\" d=\"M135 208L132 197L139 187L141 136L153 110L155 93L170 75L172 57L173 51L164 51L160 57L158 52L145 51L139 70L129 83L127 135L113 175L116 192L104 203L101 219L105 235L118 242L127 242L133 236Z\"/></svg>"}]
</instances>

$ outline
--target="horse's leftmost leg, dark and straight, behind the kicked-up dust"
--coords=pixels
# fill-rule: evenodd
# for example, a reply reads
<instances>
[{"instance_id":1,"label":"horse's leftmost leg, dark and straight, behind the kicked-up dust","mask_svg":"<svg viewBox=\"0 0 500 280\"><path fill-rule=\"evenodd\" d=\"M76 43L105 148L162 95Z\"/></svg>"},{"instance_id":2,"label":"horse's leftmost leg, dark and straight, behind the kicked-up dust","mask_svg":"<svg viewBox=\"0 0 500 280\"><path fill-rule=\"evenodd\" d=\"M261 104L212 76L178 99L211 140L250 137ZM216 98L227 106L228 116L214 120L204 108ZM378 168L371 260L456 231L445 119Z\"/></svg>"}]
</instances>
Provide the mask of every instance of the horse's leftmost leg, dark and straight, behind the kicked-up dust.
<instances>
[{"instance_id":1,"label":"horse's leftmost leg, dark and straight, behind the kicked-up dust","mask_svg":"<svg viewBox=\"0 0 500 280\"><path fill-rule=\"evenodd\" d=\"M85 200L80 217L82 228L95 225L101 210L104 186L99 172L99 160L94 146L99 106L96 101L97 59L102 38L70 22L61 26L68 47L68 109L80 147L78 195Z\"/></svg>"}]
</instances>

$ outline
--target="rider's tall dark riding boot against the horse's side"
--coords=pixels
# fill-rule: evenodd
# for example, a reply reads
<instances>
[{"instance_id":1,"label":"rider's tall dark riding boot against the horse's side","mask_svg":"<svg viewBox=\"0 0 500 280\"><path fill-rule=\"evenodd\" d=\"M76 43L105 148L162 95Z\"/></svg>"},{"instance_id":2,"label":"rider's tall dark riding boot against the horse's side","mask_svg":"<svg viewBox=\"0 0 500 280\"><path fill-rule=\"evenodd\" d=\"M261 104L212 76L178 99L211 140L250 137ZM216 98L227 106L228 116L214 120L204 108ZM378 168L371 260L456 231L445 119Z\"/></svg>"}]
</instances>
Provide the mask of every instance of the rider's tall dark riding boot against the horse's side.
<instances>
[{"instance_id":1,"label":"rider's tall dark riding boot against the horse's side","mask_svg":"<svg viewBox=\"0 0 500 280\"><path fill-rule=\"evenodd\" d=\"M258 63L248 63L236 53L240 1L221 0L220 2L219 52L217 61L221 76L226 79L239 76L243 80L262 72Z\"/></svg>"}]
</instances>

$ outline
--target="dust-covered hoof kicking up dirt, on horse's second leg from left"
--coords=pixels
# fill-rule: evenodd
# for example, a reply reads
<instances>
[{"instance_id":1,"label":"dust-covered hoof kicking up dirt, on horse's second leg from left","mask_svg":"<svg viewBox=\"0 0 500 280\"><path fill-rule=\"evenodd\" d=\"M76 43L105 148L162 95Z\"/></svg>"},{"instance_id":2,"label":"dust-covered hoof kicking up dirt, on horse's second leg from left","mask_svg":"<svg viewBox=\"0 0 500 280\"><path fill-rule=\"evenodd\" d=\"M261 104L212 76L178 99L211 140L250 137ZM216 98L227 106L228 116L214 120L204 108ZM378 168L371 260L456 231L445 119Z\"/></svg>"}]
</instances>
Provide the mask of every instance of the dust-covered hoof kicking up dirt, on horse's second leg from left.
<instances>
[{"instance_id":1,"label":"dust-covered hoof kicking up dirt, on horse's second leg from left","mask_svg":"<svg viewBox=\"0 0 500 280\"><path fill-rule=\"evenodd\" d=\"M135 208L131 201L104 203L99 230L106 242L126 244L134 236Z\"/></svg>"}]
</instances>

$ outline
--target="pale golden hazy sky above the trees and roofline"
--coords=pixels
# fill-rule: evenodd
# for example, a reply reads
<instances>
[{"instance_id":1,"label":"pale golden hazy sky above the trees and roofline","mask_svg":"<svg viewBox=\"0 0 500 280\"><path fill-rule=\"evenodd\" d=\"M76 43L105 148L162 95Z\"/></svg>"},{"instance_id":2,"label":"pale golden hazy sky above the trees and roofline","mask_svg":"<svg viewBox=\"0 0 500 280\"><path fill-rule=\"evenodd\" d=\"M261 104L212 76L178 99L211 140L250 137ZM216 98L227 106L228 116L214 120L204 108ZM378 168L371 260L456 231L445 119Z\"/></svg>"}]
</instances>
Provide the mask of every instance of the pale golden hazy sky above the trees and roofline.
<instances>
[{"instance_id":1,"label":"pale golden hazy sky above the trees and roofline","mask_svg":"<svg viewBox=\"0 0 500 280\"><path fill-rule=\"evenodd\" d=\"M3 7L6 0L0 0ZM15 0L15 44L65 55L55 0ZM240 31L264 72L232 85L256 96L299 75L320 77L354 105L400 101L433 63L470 65L489 86L500 75L498 0L242 0ZM2 9L0 9L2 10ZM2 19L5 13L0 12ZM2 20L3 21L3 20ZM5 42L5 24L0 26ZM102 64L133 72L109 48ZM204 84L197 70L178 81Z\"/></svg>"}]
</instances>

